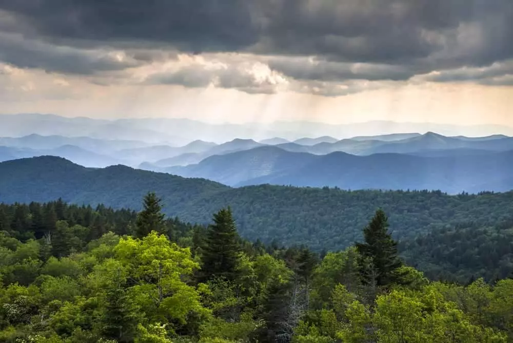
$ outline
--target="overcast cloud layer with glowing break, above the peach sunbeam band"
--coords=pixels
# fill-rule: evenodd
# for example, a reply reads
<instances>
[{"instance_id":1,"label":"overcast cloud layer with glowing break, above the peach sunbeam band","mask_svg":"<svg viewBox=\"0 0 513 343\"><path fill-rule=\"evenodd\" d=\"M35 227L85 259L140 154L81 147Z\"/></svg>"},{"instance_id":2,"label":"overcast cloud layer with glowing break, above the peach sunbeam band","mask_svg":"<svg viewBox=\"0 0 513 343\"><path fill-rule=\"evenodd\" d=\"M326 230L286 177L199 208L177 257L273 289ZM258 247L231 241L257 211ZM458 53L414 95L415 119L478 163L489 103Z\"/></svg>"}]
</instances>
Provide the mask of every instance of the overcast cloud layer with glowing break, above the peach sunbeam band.
<instances>
[{"instance_id":1,"label":"overcast cloud layer with glowing break, above the peach sunbeam band","mask_svg":"<svg viewBox=\"0 0 513 343\"><path fill-rule=\"evenodd\" d=\"M511 0L0 0L0 62L101 85L513 85L511 37Z\"/></svg>"}]
</instances>

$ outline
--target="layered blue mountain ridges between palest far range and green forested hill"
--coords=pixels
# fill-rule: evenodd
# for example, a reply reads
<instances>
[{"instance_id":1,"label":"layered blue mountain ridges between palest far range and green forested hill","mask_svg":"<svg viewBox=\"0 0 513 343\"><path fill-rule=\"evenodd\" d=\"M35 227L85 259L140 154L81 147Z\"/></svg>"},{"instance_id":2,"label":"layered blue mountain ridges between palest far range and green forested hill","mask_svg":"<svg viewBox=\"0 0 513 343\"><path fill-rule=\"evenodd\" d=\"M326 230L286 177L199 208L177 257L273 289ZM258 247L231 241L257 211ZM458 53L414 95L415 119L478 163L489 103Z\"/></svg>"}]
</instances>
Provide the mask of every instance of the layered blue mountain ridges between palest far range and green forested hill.
<instances>
[{"instance_id":1,"label":"layered blue mountain ridges between palest far range and green forested hill","mask_svg":"<svg viewBox=\"0 0 513 343\"><path fill-rule=\"evenodd\" d=\"M229 186L275 184L343 189L441 189L449 194L513 188L513 138L393 134L265 144L234 139L184 146L135 140L3 138L0 161L59 156L86 167L127 165ZM61 145L64 144L64 145ZM73 145L74 144L74 145ZM4 146L8 145L8 146Z\"/></svg>"}]
</instances>

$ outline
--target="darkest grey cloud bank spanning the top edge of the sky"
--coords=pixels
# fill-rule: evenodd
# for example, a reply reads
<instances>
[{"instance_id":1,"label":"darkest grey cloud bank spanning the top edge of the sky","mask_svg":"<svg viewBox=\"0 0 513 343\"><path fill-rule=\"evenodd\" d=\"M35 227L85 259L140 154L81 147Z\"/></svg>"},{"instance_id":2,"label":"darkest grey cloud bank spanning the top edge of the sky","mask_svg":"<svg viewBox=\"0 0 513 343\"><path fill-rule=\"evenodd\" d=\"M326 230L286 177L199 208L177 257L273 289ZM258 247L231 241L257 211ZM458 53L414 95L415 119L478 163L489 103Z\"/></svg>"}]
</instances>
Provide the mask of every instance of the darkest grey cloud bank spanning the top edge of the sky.
<instances>
[{"instance_id":1,"label":"darkest grey cloud bank spanning the top edge of the sky","mask_svg":"<svg viewBox=\"0 0 513 343\"><path fill-rule=\"evenodd\" d=\"M339 61L411 63L443 50L462 23L483 24L494 49L513 54L510 0L1 0L0 8L53 40L157 42L189 52L257 51ZM431 34L429 34L431 33ZM450 43L450 42L449 42ZM492 44L493 45L492 45ZM472 56L468 63L472 63Z\"/></svg>"}]
</instances>

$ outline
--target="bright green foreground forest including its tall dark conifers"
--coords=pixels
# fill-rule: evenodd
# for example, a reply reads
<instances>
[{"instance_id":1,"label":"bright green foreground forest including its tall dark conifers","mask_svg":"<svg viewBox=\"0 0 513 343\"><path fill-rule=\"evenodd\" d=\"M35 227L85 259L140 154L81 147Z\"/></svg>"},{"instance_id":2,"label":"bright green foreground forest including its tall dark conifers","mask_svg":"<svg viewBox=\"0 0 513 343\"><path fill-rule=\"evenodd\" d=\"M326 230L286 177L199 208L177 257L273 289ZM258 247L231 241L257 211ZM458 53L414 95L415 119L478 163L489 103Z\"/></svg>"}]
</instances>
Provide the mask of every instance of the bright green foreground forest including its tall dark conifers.
<instances>
[{"instance_id":1,"label":"bright green foreground forest including its tall dark conifers","mask_svg":"<svg viewBox=\"0 0 513 343\"><path fill-rule=\"evenodd\" d=\"M399 257L403 250L415 259L404 249L427 252L452 237L460 238L451 240L453 249L468 249L476 242L461 234L470 226L398 244L386 212L372 217L374 209L356 246L319 255L242 239L230 207L205 226L165 218L155 194L142 203L140 212L61 199L0 204L0 341L513 339L513 279L484 280L481 264L467 264L475 280L429 281ZM488 235L498 230L511 232L488 227L476 238L498 242ZM421 266L457 263L442 261L440 252L424 260L426 252L418 255ZM453 268L443 276L461 277Z\"/></svg>"}]
</instances>

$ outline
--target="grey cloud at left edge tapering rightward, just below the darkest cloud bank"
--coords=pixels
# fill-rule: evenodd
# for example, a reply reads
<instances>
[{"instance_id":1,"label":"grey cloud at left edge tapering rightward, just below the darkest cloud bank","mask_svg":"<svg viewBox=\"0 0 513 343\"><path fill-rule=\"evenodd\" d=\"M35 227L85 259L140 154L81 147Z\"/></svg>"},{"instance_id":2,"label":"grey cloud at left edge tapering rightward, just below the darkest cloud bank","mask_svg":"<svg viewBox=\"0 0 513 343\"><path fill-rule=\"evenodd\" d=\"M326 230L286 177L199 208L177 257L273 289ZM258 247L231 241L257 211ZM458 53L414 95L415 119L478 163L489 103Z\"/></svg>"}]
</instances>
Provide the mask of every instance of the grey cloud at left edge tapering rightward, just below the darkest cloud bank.
<instances>
[{"instance_id":1,"label":"grey cloud at left edge tapering rightward, just below the darkest cloud bank","mask_svg":"<svg viewBox=\"0 0 513 343\"><path fill-rule=\"evenodd\" d=\"M134 60L119 61L102 50L80 50L24 40L19 35L0 32L0 61L20 68L40 68L48 72L94 74L98 71L134 67Z\"/></svg>"}]
</instances>

